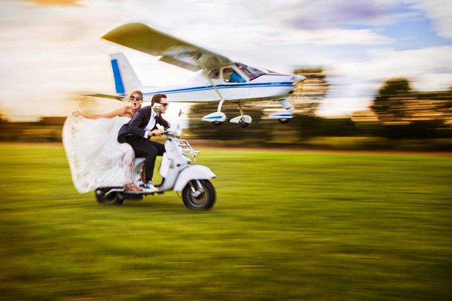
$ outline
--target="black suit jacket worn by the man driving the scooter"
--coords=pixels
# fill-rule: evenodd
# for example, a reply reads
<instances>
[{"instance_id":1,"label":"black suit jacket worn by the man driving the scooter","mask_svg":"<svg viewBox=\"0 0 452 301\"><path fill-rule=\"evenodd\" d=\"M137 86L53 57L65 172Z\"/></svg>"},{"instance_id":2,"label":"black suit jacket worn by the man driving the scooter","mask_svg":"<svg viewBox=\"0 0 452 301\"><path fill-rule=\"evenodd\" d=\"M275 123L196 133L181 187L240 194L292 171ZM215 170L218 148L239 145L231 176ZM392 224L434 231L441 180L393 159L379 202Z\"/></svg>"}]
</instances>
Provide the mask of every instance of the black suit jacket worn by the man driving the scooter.
<instances>
[{"instance_id":1,"label":"black suit jacket worn by the man driving the scooter","mask_svg":"<svg viewBox=\"0 0 452 301\"><path fill-rule=\"evenodd\" d=\"M139 109L129 122L121 126L118 132L118 142L127 142L126 136L130 135L147 140L144 137L144 134L146 132L144 128L146 127L146 125L148 125L149 119L151 119L152 110L153 108L151 106L145 106ZM151 130L156 129L157 124L162 125L164 128L170 127L168 121L163 119L160 114L157 115L155 119L155 125L153 128L151 128Z\"/></svg>"}]
</instances>

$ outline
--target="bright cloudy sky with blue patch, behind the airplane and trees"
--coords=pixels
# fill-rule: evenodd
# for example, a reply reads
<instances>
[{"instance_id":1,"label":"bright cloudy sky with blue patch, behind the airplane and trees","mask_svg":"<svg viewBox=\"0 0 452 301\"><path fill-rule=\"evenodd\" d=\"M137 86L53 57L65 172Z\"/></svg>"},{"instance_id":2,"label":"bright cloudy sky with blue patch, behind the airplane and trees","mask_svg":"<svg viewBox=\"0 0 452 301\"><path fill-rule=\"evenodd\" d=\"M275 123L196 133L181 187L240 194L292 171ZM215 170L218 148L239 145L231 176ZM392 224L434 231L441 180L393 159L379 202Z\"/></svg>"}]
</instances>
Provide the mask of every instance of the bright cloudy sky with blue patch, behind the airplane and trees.
<instances>
[{"instance_id":1,"label":"bright cloudy sky with blue patch, behind the airplane and trees","mask_svg":"<svg viewBox=\"0 0 452 301\"><path fill-rule=\"evenodd\" d=\"M77 108L72 95L113 94L108 54L119 51L145 85L192 76L99 39L129 22L270 70L323 66L330 84L318 111L324 116L367 109L393 77L408 78L415 90L452 86L446 0L0 0L2 112L11 120L67 115ZM98 103L106 111L121 105Z\"/></svg>"}]
</instances>

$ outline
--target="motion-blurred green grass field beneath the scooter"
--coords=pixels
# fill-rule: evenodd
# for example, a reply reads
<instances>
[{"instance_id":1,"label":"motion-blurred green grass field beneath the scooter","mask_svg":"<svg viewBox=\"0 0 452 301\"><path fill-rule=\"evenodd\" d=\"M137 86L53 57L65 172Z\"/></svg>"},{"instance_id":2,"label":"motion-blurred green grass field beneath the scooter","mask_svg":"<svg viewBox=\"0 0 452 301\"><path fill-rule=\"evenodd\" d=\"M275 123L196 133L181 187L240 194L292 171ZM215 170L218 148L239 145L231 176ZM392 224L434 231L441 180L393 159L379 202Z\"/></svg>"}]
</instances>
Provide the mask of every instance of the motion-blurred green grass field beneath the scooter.
<instances>
[{"instance_id":1,"label":"motion-blurred green grass field beneath the scooter","mask_svg":"<svg viewBox=\"0 0 452 301\"><path fill-rule=\"evenodd\" d=\"M0 145L0 298L450 300L452 157L201 152L217 202L98 205Z\"/></svg>"}]
</instances>

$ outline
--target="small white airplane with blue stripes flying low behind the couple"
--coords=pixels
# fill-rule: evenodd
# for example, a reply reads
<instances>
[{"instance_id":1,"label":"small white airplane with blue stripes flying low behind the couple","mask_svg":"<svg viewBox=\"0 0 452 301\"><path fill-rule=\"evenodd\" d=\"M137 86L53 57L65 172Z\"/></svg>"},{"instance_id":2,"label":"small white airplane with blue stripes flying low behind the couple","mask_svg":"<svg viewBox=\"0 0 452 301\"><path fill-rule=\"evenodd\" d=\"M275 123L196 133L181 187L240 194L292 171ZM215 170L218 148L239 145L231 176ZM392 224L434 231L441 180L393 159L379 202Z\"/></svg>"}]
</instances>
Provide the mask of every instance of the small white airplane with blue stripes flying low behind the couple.
<instances>
[{"instance_id":1,"label":"small white airplane with blue stripes flying low behind the couple","mask_svg":"<svg viewBox=\"0 0 452 301\"><path fill-rule=\"evenodd\" d=\"M230 122L247 127L252 118L244 115L241 103L244 101L279 100L285 110L270 114L281 123L293 117L293 106L287 97L293 93L295 84L306 78L301 75L281 74L262 68L233 62L229 58L193 45L169 34L160 32L142 23L128 23L108 32L102 39L126 46L159 60L195 72L186 83L175 86L143 86L123 53L110 55L117 95L91 94L122 100L127 92L140 90L146 96L156 93L171 95L172 102L218 101L216 112L202 120L221 125L226 115L221 112L223 102L233 102L239 107L240 115Z\"/></svg>"}]
</instances>

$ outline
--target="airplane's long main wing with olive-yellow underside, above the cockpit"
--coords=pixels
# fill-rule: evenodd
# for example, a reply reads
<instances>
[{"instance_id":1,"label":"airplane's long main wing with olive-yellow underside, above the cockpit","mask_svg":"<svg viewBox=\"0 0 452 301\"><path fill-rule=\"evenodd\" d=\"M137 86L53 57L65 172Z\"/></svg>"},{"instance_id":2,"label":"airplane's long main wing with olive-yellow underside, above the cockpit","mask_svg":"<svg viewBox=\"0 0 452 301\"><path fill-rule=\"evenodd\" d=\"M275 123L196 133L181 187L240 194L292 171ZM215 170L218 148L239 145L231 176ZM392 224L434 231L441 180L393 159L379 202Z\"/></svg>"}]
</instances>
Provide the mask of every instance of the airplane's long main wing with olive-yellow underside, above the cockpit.
<instances>
[{"instance_id":1,"label":"airplane's long main wing with olive-yellow underside, above the cockpit","mask_svg":"<svg viewBox=\"0 0 452 301\"><path fill-rule=\"evenodd\" d=\"M229 58L155 30L142 23L128 23L102 36L102 39L153 56L160 61L190 71L231 65Z\"/></svg>"}]
</instances>

